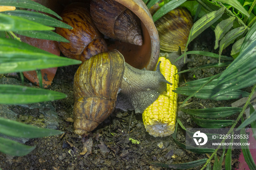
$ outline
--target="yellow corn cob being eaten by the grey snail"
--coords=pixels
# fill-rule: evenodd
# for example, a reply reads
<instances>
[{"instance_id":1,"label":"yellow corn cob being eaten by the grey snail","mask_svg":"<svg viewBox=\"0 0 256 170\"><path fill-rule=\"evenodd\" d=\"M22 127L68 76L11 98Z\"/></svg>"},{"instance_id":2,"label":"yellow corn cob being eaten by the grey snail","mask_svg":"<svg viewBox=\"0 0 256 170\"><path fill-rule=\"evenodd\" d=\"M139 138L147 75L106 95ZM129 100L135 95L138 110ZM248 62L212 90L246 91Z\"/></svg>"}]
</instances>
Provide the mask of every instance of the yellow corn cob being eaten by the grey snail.
<instances>
[{"instance_id":1,"label":"yellow corn cob being eaten by the grey snail","mask_svg":"<svg viewBox=\"0 0 256 170\"><path fill-rule=\"evenodd\" d=\"M161 61L160 72L173 85L167 84L167 92L160 94L157 100L147 107L142 114L146 131L155 137L168 136L174 132L178 96L172 91L178 87L179 76L176 74L176 66L172 65L169 59L165 57L159 57L159 61Z\"/></svg>"}]
</instances>

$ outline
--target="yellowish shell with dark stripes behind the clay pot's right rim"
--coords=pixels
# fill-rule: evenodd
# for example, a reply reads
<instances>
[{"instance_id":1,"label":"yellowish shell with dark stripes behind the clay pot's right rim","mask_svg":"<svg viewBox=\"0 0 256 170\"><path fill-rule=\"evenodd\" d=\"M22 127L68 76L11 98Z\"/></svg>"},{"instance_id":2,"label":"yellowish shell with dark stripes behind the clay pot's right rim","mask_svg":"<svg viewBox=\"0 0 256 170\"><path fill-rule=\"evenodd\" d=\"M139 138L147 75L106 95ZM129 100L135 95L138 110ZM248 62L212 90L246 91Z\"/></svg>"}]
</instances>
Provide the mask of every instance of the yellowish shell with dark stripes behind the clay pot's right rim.
<instances>
[{"instance_id":1,"label":"yellowish shell with dark stripes behind the clay pot's right rim","mask_svg":"<svg viewBox=\"0 0 256 170\"><path fill-rule=\"evenodd\" d=\"M183 8L176 8L166 13L155 22L160 39L160 49L163 51L185 50L189 32L193 22L189 12Z\"/></svg>"}]
</instances>

